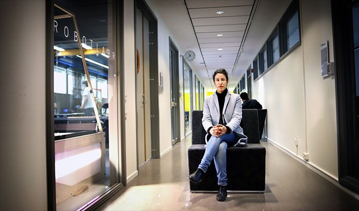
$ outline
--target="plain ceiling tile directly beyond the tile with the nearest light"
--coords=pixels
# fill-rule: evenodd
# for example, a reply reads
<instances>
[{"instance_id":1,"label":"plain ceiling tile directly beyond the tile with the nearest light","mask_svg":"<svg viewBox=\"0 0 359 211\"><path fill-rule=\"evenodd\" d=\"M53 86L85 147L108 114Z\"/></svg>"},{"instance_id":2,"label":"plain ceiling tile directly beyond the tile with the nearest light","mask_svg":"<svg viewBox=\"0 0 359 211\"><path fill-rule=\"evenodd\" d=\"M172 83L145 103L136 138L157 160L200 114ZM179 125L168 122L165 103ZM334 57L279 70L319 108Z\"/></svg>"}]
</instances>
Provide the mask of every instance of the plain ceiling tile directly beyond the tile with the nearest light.
<instances>
[{"instance_id":1,"label":"plain ceiling tile directly beyond the tile with the nearest light","mask_svg":"<svg viewBox=\"0 0 359 211\"><path fill-rule=\"evenodd\" d=\"M221 24L240 24L247 23L249 15L234 17L204 17L192 18L193 26L221 25Z\"/></svg>"}]
</instances>

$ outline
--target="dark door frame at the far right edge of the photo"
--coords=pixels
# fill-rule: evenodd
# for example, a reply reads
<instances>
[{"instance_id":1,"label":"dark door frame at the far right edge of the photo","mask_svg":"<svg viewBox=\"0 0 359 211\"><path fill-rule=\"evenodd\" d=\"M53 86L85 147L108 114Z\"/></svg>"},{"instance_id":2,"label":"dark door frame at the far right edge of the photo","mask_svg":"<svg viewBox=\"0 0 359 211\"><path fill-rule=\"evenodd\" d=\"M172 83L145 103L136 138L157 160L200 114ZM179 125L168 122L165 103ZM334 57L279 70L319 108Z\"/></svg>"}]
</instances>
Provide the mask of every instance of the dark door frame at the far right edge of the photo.
<instances>
[{"instance_id":1,"label":"dark door frame at the far right edge of the photo","mask_svg":"<svg viewBox=\"0 0 359 211\"><path fill-rule=\"evenodd\" d=\"M356 1L358 3L358 0ZM339 183L359 193L359 179L353 176L357 168L353 149L358 147L358 121L355 90L355 58L353 43L352 2L332 0L335 89L337 102ZM357 133L357 134L356 134Z\"/></svg>"}]
</instances>

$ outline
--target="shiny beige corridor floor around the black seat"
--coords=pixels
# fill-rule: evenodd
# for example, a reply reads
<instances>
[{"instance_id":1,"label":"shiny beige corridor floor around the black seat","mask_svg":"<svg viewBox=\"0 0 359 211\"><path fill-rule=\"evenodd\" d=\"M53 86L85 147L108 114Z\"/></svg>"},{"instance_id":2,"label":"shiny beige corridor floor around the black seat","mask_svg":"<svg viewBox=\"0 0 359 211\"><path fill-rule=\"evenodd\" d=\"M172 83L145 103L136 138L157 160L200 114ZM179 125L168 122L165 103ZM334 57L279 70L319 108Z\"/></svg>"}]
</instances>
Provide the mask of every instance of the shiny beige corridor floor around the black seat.
<instances>
[{"instance_id":1,"label":"shiny beige corridor floor around the black seat","mask_svg":"<svg viewBox=\"0 0 359 211\"><path fill-rule=\"evenodd\" d=\"M187 149L191 135L161 159L151 159L139 176L100 206L98 211L347 211L359 210L359 201L269 142L264 194L228 194L217 202L215 194L189 192Z\"/></svg>"}]
</instances>

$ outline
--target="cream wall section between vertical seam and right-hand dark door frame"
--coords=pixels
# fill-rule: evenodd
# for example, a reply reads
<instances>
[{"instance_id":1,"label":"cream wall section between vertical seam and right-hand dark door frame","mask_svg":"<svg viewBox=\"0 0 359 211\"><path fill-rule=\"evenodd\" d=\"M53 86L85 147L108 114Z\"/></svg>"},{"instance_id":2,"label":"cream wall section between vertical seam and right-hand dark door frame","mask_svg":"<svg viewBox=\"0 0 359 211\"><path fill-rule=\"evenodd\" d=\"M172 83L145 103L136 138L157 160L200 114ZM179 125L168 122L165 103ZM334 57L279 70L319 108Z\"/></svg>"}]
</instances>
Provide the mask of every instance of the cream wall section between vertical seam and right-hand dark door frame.
<instances>
[{"instance_id":1,"label":"cream wall section between vertical seam and right-hand dark door frame","mask_svg":"<svg viewBox=\"0 0 359 211\"><path fill-rule=\"evenodd\" d=\"M338 179L335 76L321 76L320 44L329 41L334 61L330 0L302 0L303 51L309 161Z\"/></svg>"}]
</instances>

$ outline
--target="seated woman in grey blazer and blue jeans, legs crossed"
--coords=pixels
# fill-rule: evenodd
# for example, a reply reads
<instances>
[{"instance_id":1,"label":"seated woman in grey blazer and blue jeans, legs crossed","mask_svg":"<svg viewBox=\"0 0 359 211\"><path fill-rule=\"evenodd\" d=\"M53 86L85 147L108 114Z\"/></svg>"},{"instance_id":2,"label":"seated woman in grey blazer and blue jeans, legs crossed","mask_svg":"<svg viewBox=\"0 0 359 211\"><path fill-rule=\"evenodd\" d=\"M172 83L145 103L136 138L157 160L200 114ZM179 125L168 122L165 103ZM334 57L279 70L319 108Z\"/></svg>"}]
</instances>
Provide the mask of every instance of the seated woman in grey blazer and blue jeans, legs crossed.
<instances>
[{"instance_id":1,"label":"seated woman in grey blazer and blue jeans, legs crossed","mask_svg":"<svg viewBox=\"0 0 359 211\"><path fill-rule=\"evenodd\" d=\"M188 179L199 183L214 158L219 185L216 200L222 202L227 197L227 146L245 146L247 137L239 125L242 119L242 101L239 95L228 91L227 71L216 70L213 73L213 83L217 91L204 100L202 118L202 125L207 135L211 136L198 169Z\"/></svg>"}]
</instances>

